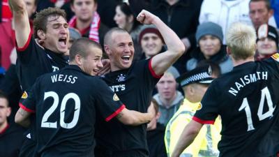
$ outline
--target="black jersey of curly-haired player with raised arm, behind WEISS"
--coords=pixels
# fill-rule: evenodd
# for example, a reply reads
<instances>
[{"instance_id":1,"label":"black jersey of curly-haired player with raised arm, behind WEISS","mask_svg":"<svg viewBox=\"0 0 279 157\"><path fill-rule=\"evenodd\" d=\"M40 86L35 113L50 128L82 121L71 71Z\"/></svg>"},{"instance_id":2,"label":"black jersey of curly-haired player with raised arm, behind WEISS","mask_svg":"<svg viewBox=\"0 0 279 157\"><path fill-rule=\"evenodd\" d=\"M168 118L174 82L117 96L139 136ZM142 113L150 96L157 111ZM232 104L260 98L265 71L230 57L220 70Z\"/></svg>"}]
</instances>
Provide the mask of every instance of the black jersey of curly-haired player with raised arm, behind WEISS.
<instances>
[{"instance_id":1,"label":"black jersey of curly-haired player with raised arm, behind WEISS","mask_svg":"<svg viewBox=\"0 0 279 157\"><path fill-rule=\"evenodd\" d=\"M36 78L68 65L67 57L47 50L29 35L24 47L17 47L17 77L20 80L22 91L29 89Z\"/></svg>"}]
</instances>

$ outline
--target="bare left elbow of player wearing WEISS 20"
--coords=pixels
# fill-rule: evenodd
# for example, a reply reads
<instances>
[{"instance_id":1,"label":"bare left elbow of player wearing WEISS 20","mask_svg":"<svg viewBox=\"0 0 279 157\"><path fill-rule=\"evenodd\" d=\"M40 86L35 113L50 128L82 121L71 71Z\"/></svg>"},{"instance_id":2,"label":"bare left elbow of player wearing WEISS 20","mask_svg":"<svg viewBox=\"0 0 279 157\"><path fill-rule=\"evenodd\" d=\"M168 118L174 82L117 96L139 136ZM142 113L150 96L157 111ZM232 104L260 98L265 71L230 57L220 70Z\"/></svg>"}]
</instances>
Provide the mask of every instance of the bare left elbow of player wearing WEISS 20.
<instances>
[{"instance_id":1,"label":"bare left elbow of player wearing WEISS 20","mask_svg":"<svg viewBox=\"0 0 279 157\"><path fill-rule=\"evenodd\" d=\"M17 110L17 113L15 114L15 123L20 124L25 128L28 128L31 124L29 119L30 114L31 112L27 112L20 108L19 110Z\"/></svg>"}]
</instances>

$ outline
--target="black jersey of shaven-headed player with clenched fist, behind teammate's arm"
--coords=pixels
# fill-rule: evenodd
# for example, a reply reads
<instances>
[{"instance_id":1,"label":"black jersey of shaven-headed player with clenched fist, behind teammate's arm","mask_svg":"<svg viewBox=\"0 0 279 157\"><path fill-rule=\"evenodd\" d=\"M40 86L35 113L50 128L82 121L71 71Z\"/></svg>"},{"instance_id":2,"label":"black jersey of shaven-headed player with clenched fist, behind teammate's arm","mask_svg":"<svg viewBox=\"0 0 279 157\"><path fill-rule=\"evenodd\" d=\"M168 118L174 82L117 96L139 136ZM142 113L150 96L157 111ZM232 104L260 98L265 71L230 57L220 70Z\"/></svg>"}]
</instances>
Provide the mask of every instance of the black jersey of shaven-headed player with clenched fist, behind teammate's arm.
<instances>
[{"instance_id":1,"label":"black jersey of shaven-headed player with clenched fist, behind teammate's arm","mask_svg":"<svg viewBox=\"0 0 279 157\"><path fill-rule=\"evenodd\" d=\"M103 80L129 110L146 112L160 77L154 73L151 59L148 59L133 63L128 69L108 73ZM125 126L115 120L108 123L100 120L96 124L96 151L103 149L110 154L112 151L134 150L142 156L148 154L146 125Z\"/></svg>"}]
</instances>

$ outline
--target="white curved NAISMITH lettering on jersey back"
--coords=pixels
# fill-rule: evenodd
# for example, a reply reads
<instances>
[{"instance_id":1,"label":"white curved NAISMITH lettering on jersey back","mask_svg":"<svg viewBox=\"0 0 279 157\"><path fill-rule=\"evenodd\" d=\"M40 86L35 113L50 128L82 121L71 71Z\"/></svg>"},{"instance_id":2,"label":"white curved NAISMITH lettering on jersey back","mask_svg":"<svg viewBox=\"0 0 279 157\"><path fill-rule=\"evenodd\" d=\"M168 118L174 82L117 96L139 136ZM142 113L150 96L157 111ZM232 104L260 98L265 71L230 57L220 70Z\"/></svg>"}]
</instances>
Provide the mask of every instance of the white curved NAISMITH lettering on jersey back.
<instances>
[{"instance_id":1,"label":"white curved NAISMITH lettering on jersey back","mask_svg":"<svg viewBox=\"0 0 279 157\"><path fill-rule=\"evenodd\" d=\"M257 71L241 77L238 82L234 82L234 87L230 87L229 93L236 96L239 91L247 84L257 82L258 80L267 80L267 71Z\"/></svg>"}]
</instances>

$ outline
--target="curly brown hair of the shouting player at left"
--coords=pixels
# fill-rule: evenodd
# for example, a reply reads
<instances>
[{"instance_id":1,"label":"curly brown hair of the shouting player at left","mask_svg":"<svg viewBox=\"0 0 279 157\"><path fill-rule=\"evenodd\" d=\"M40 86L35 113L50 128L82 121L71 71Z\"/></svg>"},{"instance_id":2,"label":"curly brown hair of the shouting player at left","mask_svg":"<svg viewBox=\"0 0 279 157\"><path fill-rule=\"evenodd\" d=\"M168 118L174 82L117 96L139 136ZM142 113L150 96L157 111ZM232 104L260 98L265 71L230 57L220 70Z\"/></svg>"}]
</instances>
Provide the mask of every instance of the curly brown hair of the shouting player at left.
<instances>
[{"instance_id":1,"label":"curly brown hair of the shouting player at left","mask_svg":"<svg viewBox=\"0 0 279 157\"><path fill-rule=\"evenodd\" d=\"M37 31L47 31L47 20L49 17L63 17L66 21L66 12L60 8L46 8L36 13L35 19L33 20L34 37L38 38Z\"/></svg>"}]
</instances>

